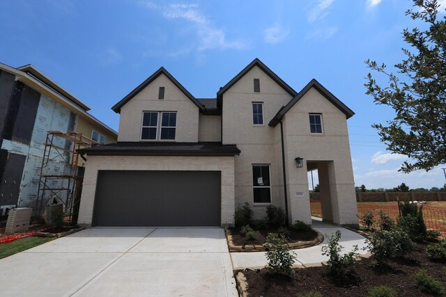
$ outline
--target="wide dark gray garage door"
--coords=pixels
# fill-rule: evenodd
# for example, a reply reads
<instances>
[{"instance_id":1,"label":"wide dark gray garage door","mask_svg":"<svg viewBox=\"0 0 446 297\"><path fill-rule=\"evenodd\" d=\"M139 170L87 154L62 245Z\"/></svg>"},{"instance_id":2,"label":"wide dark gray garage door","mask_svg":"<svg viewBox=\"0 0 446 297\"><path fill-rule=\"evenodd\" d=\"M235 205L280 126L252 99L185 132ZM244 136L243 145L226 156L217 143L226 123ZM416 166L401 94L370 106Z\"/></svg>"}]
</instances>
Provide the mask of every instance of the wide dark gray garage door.
<instances>
[{"instance_id":1,"label":"wide dark gray garage door","mask_svg":"<svg viewBox=\"0 0 446 297\"><path fill-rule=\"evenodd\" d=\"M220 171L100 170L93 226L220 226Z\"/></svg>"}]
</instances>

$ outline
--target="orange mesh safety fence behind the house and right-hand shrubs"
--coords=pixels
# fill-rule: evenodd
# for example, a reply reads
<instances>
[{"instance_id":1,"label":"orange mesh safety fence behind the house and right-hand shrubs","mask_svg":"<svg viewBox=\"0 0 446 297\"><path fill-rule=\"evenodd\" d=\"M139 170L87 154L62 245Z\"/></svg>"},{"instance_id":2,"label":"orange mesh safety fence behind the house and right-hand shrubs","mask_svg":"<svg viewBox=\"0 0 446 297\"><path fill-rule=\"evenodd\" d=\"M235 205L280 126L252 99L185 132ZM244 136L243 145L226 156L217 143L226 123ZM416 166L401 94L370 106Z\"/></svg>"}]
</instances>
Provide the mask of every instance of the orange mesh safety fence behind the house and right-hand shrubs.
<instances>
[{"instance_id":1,"label":"orange mesh safety fence behind the house and right-hand shrubs","mask_svg":"<svg viewBox=\"0 0 446 297\"><path fill-rule=\"evenodd\" d=\"M321 202L318 200L310 200L313 216L321 216ZM362 217L367 211L373 212L374 216L378 216L378 211L384 211L395 221L399 218L398 202L383 203L357 203L357 215ZM424 223L427 229L436 230L445 234L446 232L446 207L430 207L423 206Z\"/></svg>"}]
</instances>

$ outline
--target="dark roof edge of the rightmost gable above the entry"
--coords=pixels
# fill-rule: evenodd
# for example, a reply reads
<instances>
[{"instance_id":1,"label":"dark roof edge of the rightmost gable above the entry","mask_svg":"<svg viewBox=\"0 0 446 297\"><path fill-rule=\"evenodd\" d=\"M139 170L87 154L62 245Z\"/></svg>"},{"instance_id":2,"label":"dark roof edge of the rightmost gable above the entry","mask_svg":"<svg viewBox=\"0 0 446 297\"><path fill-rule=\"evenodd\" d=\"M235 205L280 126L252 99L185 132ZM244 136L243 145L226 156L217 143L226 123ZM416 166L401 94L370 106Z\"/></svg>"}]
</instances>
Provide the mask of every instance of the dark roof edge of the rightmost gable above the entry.
<instances>
[{"instance_id":1,"label":"dark roof edge of the rightmost gable above the entry","mask_svg":"<svg viewBox=\"0 0 446 297\"><path fill-rule=\"evenodd\" d=\"M309 83L307 83L307 86L302 88L302 90L298 93L298 95L296 95L293 99L291 99L291 101L288 102L288 104L282 106L282 108L279 109L274 118L270 120L268 125L270 127L275 127L277 124L279 124L279 122L284 117L285 113L289 111L291 107L293 107L294 104L296 104L311 88L315 88L316 90L318 90L318 92L321 93L323 97L328 99L328 101L330 101L334 106L336 106L337 109L342 111L346 115L347 119L351 118L355 114L351 109L349 109L346 106L346 104L342 103L341 100L337 99L336 96L334 96L329 90L327 90L324 86L322 86L321 83L316 81L316 79L312 79Z\"/></svg>"}]
</instances>

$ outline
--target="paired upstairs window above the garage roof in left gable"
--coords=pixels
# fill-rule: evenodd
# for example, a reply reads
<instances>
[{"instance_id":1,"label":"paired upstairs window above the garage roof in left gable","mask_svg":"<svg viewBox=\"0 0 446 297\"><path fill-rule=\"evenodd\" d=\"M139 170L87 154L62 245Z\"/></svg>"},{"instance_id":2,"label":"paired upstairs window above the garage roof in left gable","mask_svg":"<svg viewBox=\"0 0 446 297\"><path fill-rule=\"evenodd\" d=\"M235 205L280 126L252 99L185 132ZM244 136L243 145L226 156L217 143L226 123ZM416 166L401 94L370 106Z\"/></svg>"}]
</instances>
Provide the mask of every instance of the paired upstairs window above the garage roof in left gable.
<instances>
[{"instance_id":1,"label":"paired upstairs window above the garage roof in left gable","mask_svg":"<svg viewBox=\"0 0 446 297\"><path fill-rule=\"evenodd\" d=\"M175 112L144 111L142 115L141 140L174 141L175 134Z\"/></svg>"}]
</instances>

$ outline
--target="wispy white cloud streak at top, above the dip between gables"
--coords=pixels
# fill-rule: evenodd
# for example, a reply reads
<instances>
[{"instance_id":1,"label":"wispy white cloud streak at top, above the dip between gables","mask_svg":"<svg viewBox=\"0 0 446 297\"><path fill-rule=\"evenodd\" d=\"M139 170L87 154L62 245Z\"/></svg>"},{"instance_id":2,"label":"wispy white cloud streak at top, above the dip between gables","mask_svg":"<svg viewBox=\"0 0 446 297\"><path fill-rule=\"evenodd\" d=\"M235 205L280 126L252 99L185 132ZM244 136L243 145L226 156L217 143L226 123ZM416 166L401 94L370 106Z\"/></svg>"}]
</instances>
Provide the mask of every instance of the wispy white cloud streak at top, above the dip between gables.
<instances>
[{"instance_id":1,"label":"wispy white cloud streak at top, above the dip between gables","mask_svg":"<svg viewBox=\"0 0 446 297\"><path fill-rule=\"evenodd\" d=\"M198 3L175 3L169 6L158 6L153 2L144 2L144 6L152 10L161 10L162 16L166 19L184 19L192 25L194 33L197 35L197 51L207 49L245 49L246 42L240 40L229 41L226 33L222 29L213 26L211 20L199 9Z\"/></svg>"}]
</instances>

